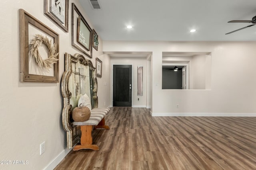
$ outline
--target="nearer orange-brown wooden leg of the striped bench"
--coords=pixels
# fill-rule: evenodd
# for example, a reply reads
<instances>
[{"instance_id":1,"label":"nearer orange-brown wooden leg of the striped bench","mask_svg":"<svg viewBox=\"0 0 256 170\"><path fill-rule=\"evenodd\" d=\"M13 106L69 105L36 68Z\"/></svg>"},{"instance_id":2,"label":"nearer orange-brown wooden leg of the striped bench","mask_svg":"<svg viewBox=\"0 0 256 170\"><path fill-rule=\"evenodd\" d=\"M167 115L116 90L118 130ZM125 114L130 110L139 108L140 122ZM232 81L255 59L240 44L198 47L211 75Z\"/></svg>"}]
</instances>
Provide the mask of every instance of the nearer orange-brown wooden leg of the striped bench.
<instances>
[{"instance_id":1,"label":"nearer orange-brown wooden leg of the striped bench","mask_svg":"<svg viewBox=\"0 0 256 170\"><path fill-rule=\"evenodd\" d=\"M76 145L73 150L92 149L100 150L97 145L92 145L92 125L81 126L81 145Z\"/></svg>"}]
</instances>

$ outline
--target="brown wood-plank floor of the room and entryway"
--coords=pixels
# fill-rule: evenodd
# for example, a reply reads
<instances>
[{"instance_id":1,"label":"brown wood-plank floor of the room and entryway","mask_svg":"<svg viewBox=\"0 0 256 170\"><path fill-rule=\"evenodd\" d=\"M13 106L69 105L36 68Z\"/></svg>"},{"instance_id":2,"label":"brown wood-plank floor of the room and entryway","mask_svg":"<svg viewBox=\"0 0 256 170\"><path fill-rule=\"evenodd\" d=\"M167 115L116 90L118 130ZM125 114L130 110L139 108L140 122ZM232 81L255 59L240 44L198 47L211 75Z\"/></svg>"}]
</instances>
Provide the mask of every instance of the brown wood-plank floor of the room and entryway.
<instances>
[{"instance_id":1,"label":"brown wood-plank floor of the room and entryway","mask_svg":"<svg viewBox=\"0 0 256 170\"><path fill-rule=\"evenodd\" d=\"M255 170L256 117L151 117L113 107L99 151L71 151L55 170Z\"/></svg>"}]
</instances>

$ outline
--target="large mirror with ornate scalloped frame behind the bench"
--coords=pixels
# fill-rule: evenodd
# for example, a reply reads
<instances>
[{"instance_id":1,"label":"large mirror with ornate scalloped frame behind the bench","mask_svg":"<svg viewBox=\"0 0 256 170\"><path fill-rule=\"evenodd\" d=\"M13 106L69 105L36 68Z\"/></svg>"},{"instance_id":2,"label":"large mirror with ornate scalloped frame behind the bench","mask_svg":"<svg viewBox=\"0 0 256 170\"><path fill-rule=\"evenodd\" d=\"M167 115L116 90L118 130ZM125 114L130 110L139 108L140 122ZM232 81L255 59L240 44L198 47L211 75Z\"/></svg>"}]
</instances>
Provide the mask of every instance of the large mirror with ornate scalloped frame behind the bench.
<instances>
[{"instance_id":1,"label":"large mirror with ornate scalloped frame behind the bench","mask_svg":"<svg viewBox=\"0 0 256 170\"><path fill-rule=\"evenodd\" d=\"M62 109L62 124L67 132L67 147L72 148L80 137L76 126L72 126L72 110L77 107L79 98L87 94L91 100L92 109L98 107L97 79L92 61L85 59L81 54L74 56L65 53L65 72L62 76L61 88L64 100Z\"/></svg>"}]
</instances>

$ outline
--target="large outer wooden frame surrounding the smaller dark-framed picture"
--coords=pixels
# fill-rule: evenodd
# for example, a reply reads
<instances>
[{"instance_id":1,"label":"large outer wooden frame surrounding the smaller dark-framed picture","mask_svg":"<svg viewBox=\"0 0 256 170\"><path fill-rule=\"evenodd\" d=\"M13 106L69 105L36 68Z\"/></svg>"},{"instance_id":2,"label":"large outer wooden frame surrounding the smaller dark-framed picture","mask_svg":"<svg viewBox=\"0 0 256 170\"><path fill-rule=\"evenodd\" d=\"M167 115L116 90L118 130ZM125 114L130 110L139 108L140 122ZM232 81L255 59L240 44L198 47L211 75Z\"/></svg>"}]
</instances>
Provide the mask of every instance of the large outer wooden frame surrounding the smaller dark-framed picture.
<instances>
[{"instance_id":1,"label":"large outer wooden frame surrounding the smaller dark-framed picture","mask_svg":"<svg viewBox=\"0 0 256 170\"><path fill-rule=\"evenodd\" d=\"M79 43L80 31L78 31L78 28L80 29L81 23L83 25L85 25L85 28L88 29L88 31L90 32L90 36L89 36L90 39L89 39L89 41L88 41L88 39L86 40L87 42L89 42L89 46L87 46L87 47L82 45L82 43ZM92 58L92 29L89 26L89 24L86 22L86 20L82 16L81 12L78 10L78 8L76 7L76 5L74 3L72 3L71 31L72 31L72 34L71 34L72 35L72 37L71 37L72 46L74 48L78 49L79 51L81 51L87 57ZM88 36L87 36L87 38L88 38Z\"/></svg>"}]
</instances>

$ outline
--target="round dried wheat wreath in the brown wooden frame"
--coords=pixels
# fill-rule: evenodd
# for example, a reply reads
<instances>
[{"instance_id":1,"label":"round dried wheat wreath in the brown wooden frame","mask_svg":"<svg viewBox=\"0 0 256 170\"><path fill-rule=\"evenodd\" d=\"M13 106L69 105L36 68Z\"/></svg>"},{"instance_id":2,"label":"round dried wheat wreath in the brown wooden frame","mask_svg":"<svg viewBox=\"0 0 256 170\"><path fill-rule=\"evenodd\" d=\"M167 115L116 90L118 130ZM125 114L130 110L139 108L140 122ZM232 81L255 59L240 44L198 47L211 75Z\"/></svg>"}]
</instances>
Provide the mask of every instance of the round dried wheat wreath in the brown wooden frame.
<instances>
[{"instance_id":1,"label":"round dried wheat wreath in the brown wooden frame","mask_svg":"<svg viewBox=\"0 0 256 170\"><path fill-rule=\"evenodd\" d=\"M42 43L48 48L48 58L45 60L42 59L38 51L38 47ZM52 45L52 40L49 40L46 36L43 37L42 35L36 34L34 39L30 41L30 53L33 57L35 57L36 63L40 66L40 68L44 67L49 71L49 69L53 67L53 64L57 63L58 59L56 59L56 57L59 53L54 54L55 51L56 44L54 43Z\"/></svg>"}]
</instances>

